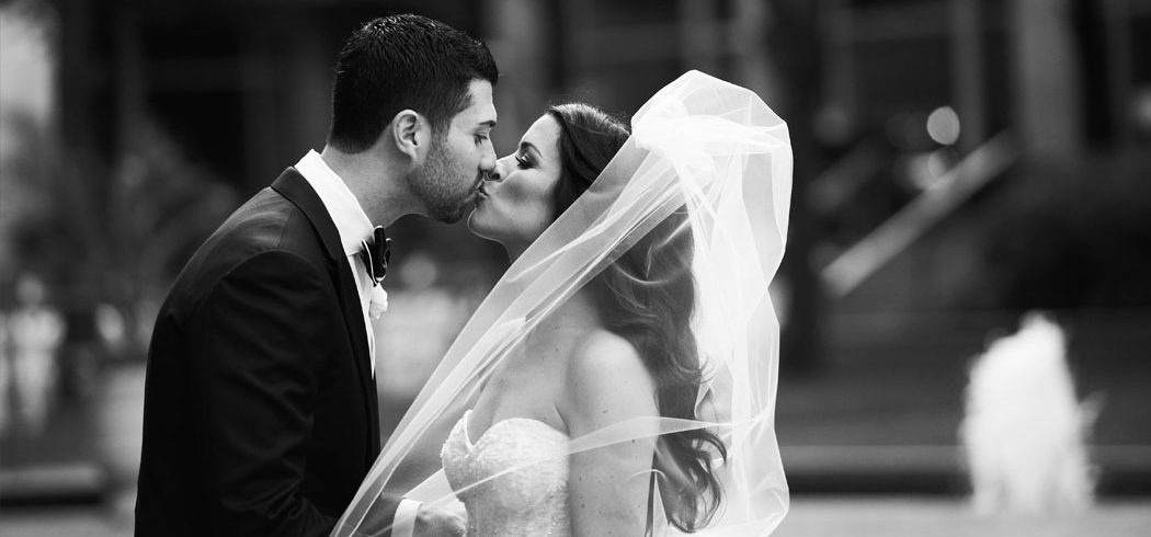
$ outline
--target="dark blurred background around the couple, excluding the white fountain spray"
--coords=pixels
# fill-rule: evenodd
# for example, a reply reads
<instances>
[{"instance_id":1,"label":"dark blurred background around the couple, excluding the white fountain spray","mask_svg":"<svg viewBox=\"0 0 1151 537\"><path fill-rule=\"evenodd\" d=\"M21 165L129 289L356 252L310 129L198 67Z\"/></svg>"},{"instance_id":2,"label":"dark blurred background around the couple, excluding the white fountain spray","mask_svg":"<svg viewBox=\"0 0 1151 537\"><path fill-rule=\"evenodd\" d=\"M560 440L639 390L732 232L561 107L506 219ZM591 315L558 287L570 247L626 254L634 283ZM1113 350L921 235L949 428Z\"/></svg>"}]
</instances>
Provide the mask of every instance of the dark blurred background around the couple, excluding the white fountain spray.
<instances>
[{"instance_id":1,"label":"dark blurred background around the couple, excluding the white fountain spray","mask_svg":"<svg viewBox=\"0 0 1151 537\"><path fill-rule=\"evenodd\" d=\"M402 11L488 43L501 155L548 103L626 117L687 69L787 121L778 535L1151 528L1149 0L8 0L0 532L130 535L168 285L322 148L337 49ZM386 434L506 266L463 224L389 235ZM980 515L968 373L1031 310L1067 337L1095 501Z\"/></svg>"}]
</instances>

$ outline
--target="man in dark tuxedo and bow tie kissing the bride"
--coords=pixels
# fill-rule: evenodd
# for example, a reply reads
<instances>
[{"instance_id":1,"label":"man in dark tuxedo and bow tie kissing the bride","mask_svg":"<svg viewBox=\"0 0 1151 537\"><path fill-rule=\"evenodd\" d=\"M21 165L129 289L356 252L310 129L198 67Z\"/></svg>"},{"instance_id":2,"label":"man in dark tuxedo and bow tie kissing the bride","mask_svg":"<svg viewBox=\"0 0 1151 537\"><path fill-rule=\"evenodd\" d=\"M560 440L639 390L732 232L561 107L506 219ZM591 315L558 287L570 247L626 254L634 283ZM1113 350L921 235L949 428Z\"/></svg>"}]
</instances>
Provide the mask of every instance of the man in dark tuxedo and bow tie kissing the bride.
<instances>
[{"instance_id":1,"label":"man in dark tuxedo and bow tie kissing the bride","mask_svg":"<svg viewBox=\"0 0 1151 537\"><path fill-rule=\"evenodd\" d=\"M351 36L322 153L237 209L160 309L137 536L331 531L380 451L368 312L387 258L373 227L464 215L495 167L496 78L482 43L425 17ZM381 505L364 535L463 534L452 515Z\"/></svg>"}]
</instances>

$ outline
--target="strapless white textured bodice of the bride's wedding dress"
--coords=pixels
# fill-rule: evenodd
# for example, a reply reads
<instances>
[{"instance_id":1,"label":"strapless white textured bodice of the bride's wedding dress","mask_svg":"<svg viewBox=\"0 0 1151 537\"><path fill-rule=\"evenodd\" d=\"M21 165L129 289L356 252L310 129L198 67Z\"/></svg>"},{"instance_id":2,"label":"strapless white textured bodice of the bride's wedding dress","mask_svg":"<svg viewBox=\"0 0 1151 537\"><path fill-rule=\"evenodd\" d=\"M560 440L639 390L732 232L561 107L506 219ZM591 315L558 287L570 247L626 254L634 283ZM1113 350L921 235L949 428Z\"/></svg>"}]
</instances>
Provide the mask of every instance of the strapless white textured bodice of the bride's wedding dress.
<instances>
[{"instance_id":1,"label":"strapless white textured bodice of the bride's wedding dress","mask_svg":"<svg viewBox=\"0 0 1151 537\"><path fill-rule=\"evenodd\" d=\"M571 535L567 435L513 417L493 423L473 443L471 416L467 411L456 422L440 452L448 483L467 509L467 537ZM483 481L523 465L529 466ZM468 483L480 484L465 489Z\"/></svg>"}]
</instances>

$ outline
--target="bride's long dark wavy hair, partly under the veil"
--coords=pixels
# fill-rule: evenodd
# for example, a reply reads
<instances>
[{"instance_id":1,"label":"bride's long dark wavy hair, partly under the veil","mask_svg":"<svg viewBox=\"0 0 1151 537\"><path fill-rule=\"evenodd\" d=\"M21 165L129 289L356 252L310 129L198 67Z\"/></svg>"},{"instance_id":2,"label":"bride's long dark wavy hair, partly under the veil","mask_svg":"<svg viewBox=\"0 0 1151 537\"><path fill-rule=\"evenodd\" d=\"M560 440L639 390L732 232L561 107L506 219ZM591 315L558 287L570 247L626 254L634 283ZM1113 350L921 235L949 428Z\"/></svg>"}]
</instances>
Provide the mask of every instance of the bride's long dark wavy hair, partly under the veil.
<instances>
[{"instance_id":1,"label":"bride's long dark wavy hair, partly under the veil","mask_svg":"<svg viewBox=\"0 0 1151 537\"><path fill-rule=\"evenodd\" d=\"M557 105L547 112L561 126L562 172L552 191L561 214L586 191L631 136L627 125L589 105ZM694 420L703 383L695 336L692 233L680 208L657 224L588 286L605 328L639 351L655 377L660 414ZM683 531L706 526L719 508L722 490L712 455L726 460L723 440L708 429L663 435L654 468L668 521Z\"/></svg>"}]
</instances>

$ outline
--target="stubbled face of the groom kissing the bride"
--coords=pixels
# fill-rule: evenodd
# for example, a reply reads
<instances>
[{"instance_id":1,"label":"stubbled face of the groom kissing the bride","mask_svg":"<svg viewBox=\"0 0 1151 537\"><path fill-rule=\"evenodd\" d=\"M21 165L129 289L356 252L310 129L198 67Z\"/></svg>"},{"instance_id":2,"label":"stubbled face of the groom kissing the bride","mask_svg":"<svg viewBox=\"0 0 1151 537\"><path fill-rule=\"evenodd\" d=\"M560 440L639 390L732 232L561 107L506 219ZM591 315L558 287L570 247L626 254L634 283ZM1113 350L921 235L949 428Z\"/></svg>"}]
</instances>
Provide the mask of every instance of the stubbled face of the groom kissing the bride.
<instances>
[{"instance_id":1,"label":"stubbled face of the groom kissing the bride","mask_svg":"<svg viewBox=\"0 0 1151 537\"><path fill-rule=\"evenodd\" d=\"M412 192L422 201L427 215L441 222L458 222L464 216L496 164L491 84L472 80L468 97L468 107L433 137L427 159L411 181Z\"/></svg>"}]
</instances>

